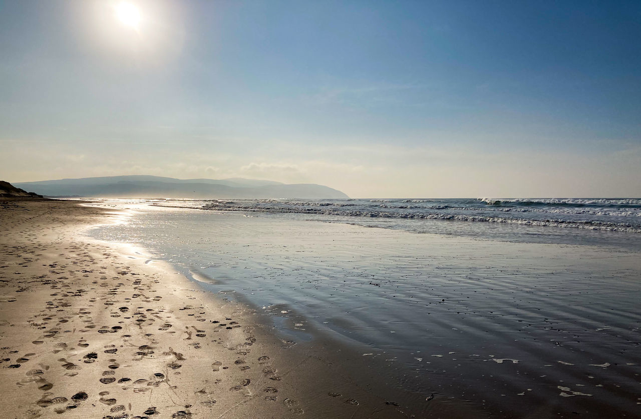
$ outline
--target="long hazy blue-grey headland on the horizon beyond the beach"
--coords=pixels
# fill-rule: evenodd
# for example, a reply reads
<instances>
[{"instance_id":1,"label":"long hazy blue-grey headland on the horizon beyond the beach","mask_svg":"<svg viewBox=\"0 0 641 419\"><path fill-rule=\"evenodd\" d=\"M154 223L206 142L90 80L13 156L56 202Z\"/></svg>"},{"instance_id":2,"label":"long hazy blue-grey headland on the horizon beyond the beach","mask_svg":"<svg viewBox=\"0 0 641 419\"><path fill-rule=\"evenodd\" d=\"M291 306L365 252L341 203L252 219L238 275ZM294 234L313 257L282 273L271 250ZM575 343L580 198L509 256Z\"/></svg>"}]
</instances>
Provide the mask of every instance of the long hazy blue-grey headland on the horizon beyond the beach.
<instances>
[{"instance_id":1,"label":"long hazy blue-grey headland on the horizon beyond the beach","mask_svg":"<svg viewBox=\"0 0 641 419\"><path fill-rule=\"evenodd\" d=\"M188 199L340 199L345 193L313 183L285 185L258 179L174 179L160 176L108 176L19 182L46 196L188 198Z\"/></svg>"}]
</instances>

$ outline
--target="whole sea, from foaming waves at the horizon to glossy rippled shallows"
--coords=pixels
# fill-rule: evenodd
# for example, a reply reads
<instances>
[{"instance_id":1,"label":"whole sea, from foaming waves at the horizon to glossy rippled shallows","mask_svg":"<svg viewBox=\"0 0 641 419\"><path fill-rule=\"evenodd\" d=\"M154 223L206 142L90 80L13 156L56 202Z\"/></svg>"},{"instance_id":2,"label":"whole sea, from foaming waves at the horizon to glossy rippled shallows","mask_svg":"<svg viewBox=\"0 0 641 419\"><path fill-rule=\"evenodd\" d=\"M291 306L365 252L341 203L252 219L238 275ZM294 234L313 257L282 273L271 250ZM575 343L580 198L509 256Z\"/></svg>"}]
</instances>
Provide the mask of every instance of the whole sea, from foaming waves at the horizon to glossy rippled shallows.
<instances>
[{"instance_id":1,"label":"whole sea, from foaming waves at the horizon to glossy rippled shallows","mask_svg":"<svg viewBox=\"0 0 641 419\"><path fill-rule=\"evenodd\" d=\"M104 199L283 341L332 341L426 416L641 416L641 199Z\"/></svg>"}]
</instances>

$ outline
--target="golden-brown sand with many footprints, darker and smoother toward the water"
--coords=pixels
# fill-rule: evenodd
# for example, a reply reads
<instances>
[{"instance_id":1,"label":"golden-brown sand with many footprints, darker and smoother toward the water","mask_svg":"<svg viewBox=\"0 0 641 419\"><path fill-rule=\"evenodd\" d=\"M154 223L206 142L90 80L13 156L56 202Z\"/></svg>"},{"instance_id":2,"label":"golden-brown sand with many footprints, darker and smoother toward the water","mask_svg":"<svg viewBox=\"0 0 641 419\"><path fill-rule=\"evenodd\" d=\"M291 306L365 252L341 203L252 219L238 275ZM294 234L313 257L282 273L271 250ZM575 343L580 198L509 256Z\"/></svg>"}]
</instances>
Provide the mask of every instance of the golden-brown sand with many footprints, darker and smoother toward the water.
<instances>
[{"instance_id":1,"label":"golden-brown sand with many footprints, darker and smoother toward the water","mask_svg":"<svg viewBox=\"0 0 641 419\"><path fill-rule=\"evenodd\" d=\"M169 265L81 234L115 217L0 201L3 418L410 416Z\"/></svg>"}]
</instances>

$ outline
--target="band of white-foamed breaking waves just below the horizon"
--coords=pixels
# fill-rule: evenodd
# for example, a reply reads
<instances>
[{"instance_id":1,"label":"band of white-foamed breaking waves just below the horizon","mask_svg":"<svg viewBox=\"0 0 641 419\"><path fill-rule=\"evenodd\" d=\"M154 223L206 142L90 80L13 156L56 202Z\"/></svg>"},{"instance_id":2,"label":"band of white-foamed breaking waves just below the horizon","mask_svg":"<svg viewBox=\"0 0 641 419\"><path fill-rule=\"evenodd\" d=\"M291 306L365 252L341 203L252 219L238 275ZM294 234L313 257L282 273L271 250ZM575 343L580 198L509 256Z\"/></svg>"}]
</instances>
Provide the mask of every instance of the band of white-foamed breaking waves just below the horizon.
<instances>
[{"instance_id":1,"label":"band of white-foamed breaking waves just below the horizon","mask_svg":"<svg viewBox=\"0 0 641 419\"><path fill-rule=\"evenodd\" d=\"M370 199L206 201L201 209L452 220L641 233L641 199Z\"/></svg>"}]
</instances>

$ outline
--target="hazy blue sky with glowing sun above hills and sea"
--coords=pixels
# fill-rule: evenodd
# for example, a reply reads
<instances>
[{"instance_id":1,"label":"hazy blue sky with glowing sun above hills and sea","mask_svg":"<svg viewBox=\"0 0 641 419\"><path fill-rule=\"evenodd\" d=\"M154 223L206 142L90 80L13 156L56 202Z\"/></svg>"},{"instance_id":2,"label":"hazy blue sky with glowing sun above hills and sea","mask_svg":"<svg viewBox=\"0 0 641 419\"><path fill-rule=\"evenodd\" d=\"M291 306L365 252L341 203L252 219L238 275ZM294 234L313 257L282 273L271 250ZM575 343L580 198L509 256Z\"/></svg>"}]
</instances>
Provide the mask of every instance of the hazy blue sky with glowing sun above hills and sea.
<instances>
[{"instance_id":1,"label":"hazy blue sky with glowing sun above hills and sea","mask_svg":"<svg viewBox=\"0 0 641 419\"><path fill-rule=\"evenodd\" d=\"M0 0L0 179L640 197L641 2Z\"/></svg>"}]
</instances>

